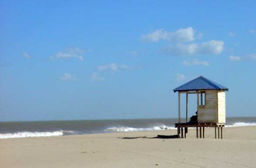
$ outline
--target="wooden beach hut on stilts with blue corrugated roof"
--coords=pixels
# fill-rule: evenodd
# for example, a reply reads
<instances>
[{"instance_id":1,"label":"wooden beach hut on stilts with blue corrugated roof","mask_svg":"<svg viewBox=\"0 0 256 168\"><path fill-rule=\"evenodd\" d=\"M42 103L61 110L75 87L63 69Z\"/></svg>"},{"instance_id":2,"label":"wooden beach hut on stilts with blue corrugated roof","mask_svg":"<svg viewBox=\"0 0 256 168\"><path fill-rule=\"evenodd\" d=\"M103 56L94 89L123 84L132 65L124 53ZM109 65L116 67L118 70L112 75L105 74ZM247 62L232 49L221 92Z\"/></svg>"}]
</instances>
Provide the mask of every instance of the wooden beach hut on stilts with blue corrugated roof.
<instances>
[{"instance_id":1,"label":"wooden beach hut on stilts with blue corrugated roof","mask_svg":"<svg viewBox=\"0 0 256 168\"><path fill-rule=\"evenodd\" d=\"M197 138L198 138L198 128L200 129L200 138L204 138L205 127L215 128L215 138L217 138L216 129L218 128L218 138L220 138L220 128L221 128L221 138L223 137L222 127L225 126L226 122L226 108L225 108L225 91L228 91L227 87L217 84L205 77L197 77L192 81L189 81L179 87L173 89L174 93L178 92L178 107L179 107L179 117L178 123L175 124L177 128L177 133L183 138L183 128L185 132L185 138L187 133L187 128L194 127L197 128ZM180 122L180 94L186 94L186 122ZM193 116L196 118L194 121L188 121L188 95L197 94L197 115ZM192 118L191 118L192 119Z\"/></svg>"}]
</instances>

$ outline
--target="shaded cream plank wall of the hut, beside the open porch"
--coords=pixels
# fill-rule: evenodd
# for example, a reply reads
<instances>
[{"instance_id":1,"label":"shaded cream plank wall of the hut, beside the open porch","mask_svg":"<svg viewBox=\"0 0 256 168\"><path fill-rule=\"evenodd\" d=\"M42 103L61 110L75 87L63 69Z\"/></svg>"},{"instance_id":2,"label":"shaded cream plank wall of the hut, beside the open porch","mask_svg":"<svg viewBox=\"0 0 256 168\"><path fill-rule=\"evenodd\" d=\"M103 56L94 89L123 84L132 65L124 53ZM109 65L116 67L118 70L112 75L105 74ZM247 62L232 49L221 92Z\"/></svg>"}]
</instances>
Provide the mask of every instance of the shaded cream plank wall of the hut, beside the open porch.
<instances>
[{"instance_id":1,"label":"shaded cream plank wall of the hut, beside the open porch","mask_svg":"<svg viewBox=\"0 0 256 168\"><path fill-rule=\"evenodd\" d=\"M205 91L205 105L197 106L198 122L218 123L218 91ZM200 101L200 100L199 100Z\"/></svg>"}]
</instances>

